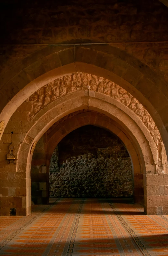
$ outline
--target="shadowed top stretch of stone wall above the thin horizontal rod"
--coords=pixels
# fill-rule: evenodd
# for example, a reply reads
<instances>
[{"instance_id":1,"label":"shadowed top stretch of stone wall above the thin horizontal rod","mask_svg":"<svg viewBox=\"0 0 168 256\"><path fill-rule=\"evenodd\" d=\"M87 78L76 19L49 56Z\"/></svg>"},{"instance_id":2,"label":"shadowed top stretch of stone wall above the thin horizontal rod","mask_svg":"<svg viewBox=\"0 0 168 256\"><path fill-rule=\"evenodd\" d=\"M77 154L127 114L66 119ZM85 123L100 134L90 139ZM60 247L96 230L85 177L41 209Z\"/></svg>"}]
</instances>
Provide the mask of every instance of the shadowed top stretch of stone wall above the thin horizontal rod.
<instances>
[{"instance_id":1,"label":"shadowed top stretch of stone wall above the thin horizontal rod","mask_svg":"<svg viewBox=\"0 0 168 256\"><path fill-rule=\"evenodd\" d=\"M18 2L18 1L17 1ZM167 8L157 0L75 0L4 3L2 42L55 43L76 38L107 42L167 40ZM20 22L22 20L22 22ZM159 21L159 23L158 23Z\"/></svg>"}]
</instances>

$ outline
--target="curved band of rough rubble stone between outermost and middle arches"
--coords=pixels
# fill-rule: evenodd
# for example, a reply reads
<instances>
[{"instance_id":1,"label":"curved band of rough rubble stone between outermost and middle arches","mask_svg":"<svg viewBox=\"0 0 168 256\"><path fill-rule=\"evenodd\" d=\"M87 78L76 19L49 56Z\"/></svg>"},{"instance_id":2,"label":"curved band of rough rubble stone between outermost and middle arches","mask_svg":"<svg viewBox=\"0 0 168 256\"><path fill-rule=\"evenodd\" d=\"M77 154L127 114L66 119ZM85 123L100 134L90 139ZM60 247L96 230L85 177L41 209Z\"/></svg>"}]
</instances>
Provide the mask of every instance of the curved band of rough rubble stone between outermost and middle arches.
<instances>
[{"instance_id":1,"label":"curved band of rough rubble stone between outermost and middle arches","mask_svg":"<svg viewBox=\"0 0 168 256\"><path fill-rule=\"evenodd\" d=\"M54 80L53 82L48 83L28 98L28 101L32 102L33 104L32 112L29 114L29 120L32 120L32 118L43 107L52 101L55 101L56 99L59 99L60 97L69 93L82 90L88 85L90 86L91 90L106 94L121 102L141 119L149 130L151 137L156 144L158 150L157 165L158 167L162 167L162 138L151 115L129 92L103 77L79 72L63 76Z\"/></svg>"}]
</instances>

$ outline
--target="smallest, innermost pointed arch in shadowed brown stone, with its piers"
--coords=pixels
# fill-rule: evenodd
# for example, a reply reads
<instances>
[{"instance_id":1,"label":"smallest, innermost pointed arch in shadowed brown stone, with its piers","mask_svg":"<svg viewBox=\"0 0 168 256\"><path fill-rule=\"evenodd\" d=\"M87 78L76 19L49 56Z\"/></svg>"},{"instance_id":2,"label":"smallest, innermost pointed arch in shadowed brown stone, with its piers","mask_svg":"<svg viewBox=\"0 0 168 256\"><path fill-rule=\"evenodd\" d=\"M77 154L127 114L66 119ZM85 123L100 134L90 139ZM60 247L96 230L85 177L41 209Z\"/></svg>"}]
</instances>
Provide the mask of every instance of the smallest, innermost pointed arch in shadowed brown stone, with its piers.
<instances>
[{"instance_id":1,"label":"smallest, innermost pointed arch in shadowed brown stone, with its piers","mask_svg":"<svg viewBox=\"0 0 168 256\"><path fill-rule=\"evenodd\" d=\"M127 150L129 152L129 155L127 153L129 162L131 159L131 164L132 164L131 173L133 177L133 181L131 182L131 185L134 185L133 200L136 203L143 204L143 172L145 173L145 166L143 164L144 160L141 159L141 156L139 155L139 151L136 148L136 145L134 145L134 141L128 138L129 134L127 134L126 131L119 128L119 125L114 120L110 119L106 115L103 115L94 111L89 111L89 110L80 110L63 117L62 119L57 121L55 124L53 124L52 127L50 127L47 130L47 132L39 139L36 145L36 148L34 150L32 163L31 163L31 182L32 182L33 203L38 202L38 203L46 204L49 201L48 200L49 199L49 193L48 193L49 182L48 181L49 181L49 172L50 172L50 159L52 158L53 151L56 148L56 146L59 145L59 142L61 142L63 138L66 138L66 136L69 135L72 131L75 133L75 131L78 128L87 127L87 125L92 125L93 127L98 129L103 128L103 131L110 134L110 136L113 135L118 139L120 138L119 141L121 145L124 146L125 152L127 152ZM60 136L60 132L62 132L61 136ZM57 156L55 158L57 158ZM88 157L86 158L88 159ZM53 167L54 163L53 161L51 162L52 162L51 168L54 169ZM56 165L57 164L58 164L58 161ZM61 166L61 164L59 166ZM57 165L56 167L57 171L59 169L59 166ZM61 172L63 177L64 176L63 170ZM59 171L59 175L60 175L60 171ZM56 177L56 179L57 178L58 177ZM53 182L51 183L55 182L54 179L53 179ZM113 185L111 185L111 187L112 186ZM39 192L37 192L36 189L38 189ZM114 189L115 189L115 186L113 187L113 190ZM38 196L37 196L37 193L39 193ZM120 195L118 193L116 193L115 195L114 193L113 195L111 193L110 195L128 197L128 194L126 195L125 192L124 194L122 192L122 195L121 193ZM53 194L52 196L54 195L55 194ZM106 193L106 197L110 195ZM105 194L103 196L105 196ZM132 200L131 195L129 198Z\"/></svg>"}]
</instances>

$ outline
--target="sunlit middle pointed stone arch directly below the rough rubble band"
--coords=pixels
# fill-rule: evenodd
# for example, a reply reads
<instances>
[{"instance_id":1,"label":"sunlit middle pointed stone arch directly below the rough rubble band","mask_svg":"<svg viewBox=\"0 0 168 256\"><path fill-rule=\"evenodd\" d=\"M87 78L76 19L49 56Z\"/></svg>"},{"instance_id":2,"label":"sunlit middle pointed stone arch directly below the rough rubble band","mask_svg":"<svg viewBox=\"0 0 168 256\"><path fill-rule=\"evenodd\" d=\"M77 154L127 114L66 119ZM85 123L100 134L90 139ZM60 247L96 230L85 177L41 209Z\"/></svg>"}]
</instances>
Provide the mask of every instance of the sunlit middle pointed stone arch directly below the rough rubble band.
<instances>
[{"instance_id":1,"label":"sunlit middle pointed stone arch directly below the rough rubble band","mask_svg":"<svg viewBox=\"0 0 168 256\"><path fill-rule=\"evenodd\" d=\"M49 88L49 86L47 88ZM117 90L120 89L118 88ZM20 129L18 134L22 136L22 143L20 144L20 141L17 141L15 145L18 158L16 168L16 173L18 173L16 175L16 186L20 186L19 184L22 183L22 186L25 188L24 194L22 194L22 196L20 194L17 194L19 200L19 204L17 204L19 206L17 207L18 215L29 214L31 211L30 167L32 155L30 155L30 150L34 141L38 141L39 138L48 130L48 128L50 128L52 124L54 124L57 120L60 120L65 115L73 113L74 111L82 109L98 111L115 120L118 123L118 126L120 126L127 132L128 137L131 141L133 141L133 143L135 144L135 148L140 155L142 168L145 175L144 186L146 186L146 182L148 182L149 186L151 186L151 183L154 179L156 179L157 174L166 173L167 159L165 157L164 147L162 147L162 150L160 152L160 156L162 156L163 160L162 166L160 166L160 163L158 162L160 156L158 156L157 143L162 143L162 141L154 141L152 134L147 127L148 125L146 126L143 122L143 118L141 119L139 116L137 116L137 114L134 113L133 110L129 109L123 102L118 101L110 95L106 95L105 92L100 93L94 90L90 91L87 88L82 88L79 91L71 92L68 95L59 97L58 99L55 99L49 104L46 104L43 108L39 110L36 115L33 116L32 119L29 119L28 113L32 112L33 103L30 100L25 101L23 105L18 108L18 110L12 116L9 125L6 127L6 130L9 131L11 129L11 125L12 127L16 125L17 120L17 128ZM98 122L100 122L99 126L102 126L101 120L99 120ZM153 121L150 122L154 123ZM21 127L20 124L22 124ZM1 146L3 146L3 152L7 150L7 147L4 148L3 144L3 142L6 140L5 134L6 133L3 134L1 141ZM61 130L58 136L59 138L62 137ZM3 160L3 163L6 163L5 159ZM7 165L5 165L5 168L9 172L9 168ZM160 185L162 186L162 182ZM160 206L157 206L157 203L155 203L155 206L152 206L150 193L145 193L146 212L148 214L159 213L161 208L158 207ZM158 196L160 196L159 193ZM166 199L165 195L163 197L163 200L164 199ZM4 200L6 200L6 198L4 198ZM13 197L10 198L10 200L13 200ZM152 200L157 200L157 196L152 197ZM163 202L162 211L164 204L165 202ZM9 211L9 208L7 208L6 211Z\"/></svg>"}]
</instances>

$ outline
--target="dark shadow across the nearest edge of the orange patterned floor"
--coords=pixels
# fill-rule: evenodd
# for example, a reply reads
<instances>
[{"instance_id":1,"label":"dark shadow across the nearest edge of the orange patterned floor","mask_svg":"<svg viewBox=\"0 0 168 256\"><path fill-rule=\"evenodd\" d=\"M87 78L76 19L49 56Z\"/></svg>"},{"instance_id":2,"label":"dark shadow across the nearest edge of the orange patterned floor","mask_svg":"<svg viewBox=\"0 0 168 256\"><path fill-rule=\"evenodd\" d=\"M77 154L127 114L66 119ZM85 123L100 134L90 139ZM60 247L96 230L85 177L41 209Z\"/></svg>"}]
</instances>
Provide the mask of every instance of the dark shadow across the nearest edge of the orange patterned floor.
<instances>
[{"instance_id":1,"label":"dark shadow across the nearest edge of the orange patterned floor","mask_svg":"<svg viewBox=\"0 0 168 256\"><path fill-rule=\"evenodd\" d=\"M54 243L44 243L38 242L36 243L28 243L26 241L20 241L20 243L12 243L9 246L2 248L0 254L3 255L15 255L19 253L19 255L29 255L29 253L33 253L33 255L69 255L67 253L71 253L71 255L85 255L85 253L90 253L91 255L99 255L99 253L103 253L103 255L112 255L115 253L135 253L135 248L137 248L138 252L141 255L140 249L146 249L146 253L149 252L151 254L148 255L160 255L160 253L166 253L168 251L167 248L167 240L168 234L159 234L159 235L146 235L146 236L138 236L139 242L136 243L132 238L129 238L127 234L119 236L119 238L87 238L87 239L70 239L68 242L64 242L60 239L58 242ZM119 246L118 246L119 242ZM137 246L138 245L138 246ZM138 248L140 247L140 249ZM118 250L120 248L120 251ZM122 248L122 249L121 249ZM7 253L7 254L6 254ZM93 254L94 253L94 254ZM112 254L109 254L112 253ZM159 254L156 254L159 253ZM90 255L89 254L89 255ZM128 255L127 254L127 255ZM32 255L32 254L31 254ZM123 255L123 254L122 254ZM131 254L132 255L132 254ZM136 254L137 255L137 254ZM139 255L139 254L138 254ZM145 254L147 255L147 254ZM162 254L163 256L165 254ZM166 254L167 255L167 254Z\"/></svg>"}]
</instances>

